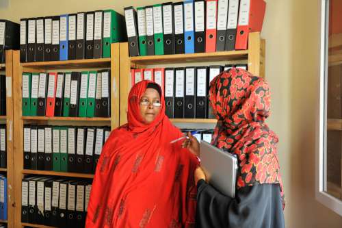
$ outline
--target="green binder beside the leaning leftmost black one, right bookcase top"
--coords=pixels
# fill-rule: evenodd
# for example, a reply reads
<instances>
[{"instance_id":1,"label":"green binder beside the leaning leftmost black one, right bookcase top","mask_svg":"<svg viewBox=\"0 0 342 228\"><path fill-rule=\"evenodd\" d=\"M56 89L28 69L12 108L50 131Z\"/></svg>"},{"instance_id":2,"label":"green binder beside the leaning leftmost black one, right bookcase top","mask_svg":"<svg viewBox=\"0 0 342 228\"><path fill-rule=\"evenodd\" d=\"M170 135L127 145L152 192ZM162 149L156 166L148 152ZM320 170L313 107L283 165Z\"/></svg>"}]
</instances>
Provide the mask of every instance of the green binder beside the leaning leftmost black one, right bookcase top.
<instances>
[{"instance_id":1,"label":"green binder beside the leaning leftmost black one, right bookcase top","mask_svg":"<svg viewBox=\"0 0 342 228\"><path fill-rule=\"evenodd\" d=\"M147 55L146 14L144 7L137 8L137 30L139 35L140 55Z\"/></svg>"}]
</instances>

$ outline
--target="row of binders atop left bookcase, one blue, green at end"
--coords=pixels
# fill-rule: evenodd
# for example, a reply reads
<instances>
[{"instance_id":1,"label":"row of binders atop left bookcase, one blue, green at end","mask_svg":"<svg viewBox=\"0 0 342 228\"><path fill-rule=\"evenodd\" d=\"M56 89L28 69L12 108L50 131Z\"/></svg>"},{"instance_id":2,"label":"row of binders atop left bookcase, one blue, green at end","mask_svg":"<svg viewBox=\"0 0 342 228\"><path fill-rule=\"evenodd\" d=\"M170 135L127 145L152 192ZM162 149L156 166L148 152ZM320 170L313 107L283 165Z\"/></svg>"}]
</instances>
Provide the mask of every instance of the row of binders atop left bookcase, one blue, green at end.
<instances>
[{"instance_id":1,"label":"row of binders atop left bookcase, one blue, green at end","mask_svg":"<svg viewBox=\"0 0 342 228\"><path fill-rule=\"evenodd\" d=\"M124 16L114 10L23 18L21 62L109 58L111 43L126 40Z\"/></svg>"}]
</instances>

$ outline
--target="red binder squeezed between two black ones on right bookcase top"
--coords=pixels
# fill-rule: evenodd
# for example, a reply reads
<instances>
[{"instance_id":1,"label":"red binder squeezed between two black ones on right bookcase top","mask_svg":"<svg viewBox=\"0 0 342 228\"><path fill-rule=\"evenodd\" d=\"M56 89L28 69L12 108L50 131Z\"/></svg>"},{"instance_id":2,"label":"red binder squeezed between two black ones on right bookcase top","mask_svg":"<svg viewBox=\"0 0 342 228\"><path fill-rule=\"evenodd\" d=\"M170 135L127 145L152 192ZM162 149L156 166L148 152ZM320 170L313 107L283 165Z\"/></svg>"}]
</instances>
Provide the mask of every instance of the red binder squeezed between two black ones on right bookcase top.
<instances>
[{"instance_id":1,"label":"red binder squeezed between two black ones on right bookcase top","mask_svg":"<svg viewBox=\"0 0 342 228\"><path fill-rule=\"evenodd\" d=\"M207 0L205 29L205 52L216 51L216 24L218 23L218 0Z\"/></svg>"}]
</instances>

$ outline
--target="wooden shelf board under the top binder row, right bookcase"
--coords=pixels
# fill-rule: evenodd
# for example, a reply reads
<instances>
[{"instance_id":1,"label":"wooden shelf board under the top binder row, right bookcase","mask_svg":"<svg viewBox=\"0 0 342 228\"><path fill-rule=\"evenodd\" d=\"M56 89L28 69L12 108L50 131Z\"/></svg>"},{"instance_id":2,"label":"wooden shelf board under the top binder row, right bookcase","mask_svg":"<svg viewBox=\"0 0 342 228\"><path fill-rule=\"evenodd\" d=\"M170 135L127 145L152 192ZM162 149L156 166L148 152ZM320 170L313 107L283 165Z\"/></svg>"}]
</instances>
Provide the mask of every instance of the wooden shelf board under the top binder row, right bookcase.
<instances>
[{"instance_id":1,"label":"wooden shelf board under the top binder row, right bookcase","mask_svg":"<svg viewBox=\"0 0 342 228\"><path fill-rule=\"evenodd\" d=\"M243 60L248 57L248 50L244 51L219 51L213 53L194 53L176 55L149 55L130 57L135 64L161 64L161 63L184 63L184 62L211 62L227 60Z\"/></svg>"}]
</instances>

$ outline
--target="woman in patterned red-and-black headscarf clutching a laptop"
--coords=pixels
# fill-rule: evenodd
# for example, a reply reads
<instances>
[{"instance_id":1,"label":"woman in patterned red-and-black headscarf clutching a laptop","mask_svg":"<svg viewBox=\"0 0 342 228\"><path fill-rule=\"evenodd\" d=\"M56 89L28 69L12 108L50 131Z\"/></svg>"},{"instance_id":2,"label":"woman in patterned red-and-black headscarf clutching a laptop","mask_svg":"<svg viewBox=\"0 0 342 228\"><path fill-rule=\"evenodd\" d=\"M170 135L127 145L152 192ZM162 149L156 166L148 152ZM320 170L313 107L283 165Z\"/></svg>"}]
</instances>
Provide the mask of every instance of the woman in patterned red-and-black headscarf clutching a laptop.
<instances>
[{"instance_id":1,"label":"woman in patterned red-and-black headscarf clutching a laptop","mask_svg":"<svg viewBox=\"0 0 342 228\"><path fill-rule=\"evenodd\" d=\"M271 103L267 83L233 68L211 81L209 99L218 118L211 144L237 155L237 190L235 198L221 194L196 169L196 227L285 227L278 137L265 123ZM198 155L196 138L188 136L183 147Z\"/></svg>"}]
</instances>

